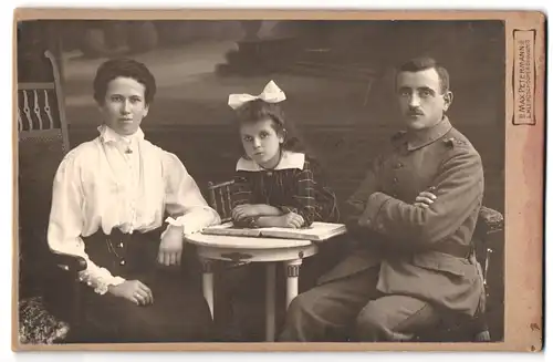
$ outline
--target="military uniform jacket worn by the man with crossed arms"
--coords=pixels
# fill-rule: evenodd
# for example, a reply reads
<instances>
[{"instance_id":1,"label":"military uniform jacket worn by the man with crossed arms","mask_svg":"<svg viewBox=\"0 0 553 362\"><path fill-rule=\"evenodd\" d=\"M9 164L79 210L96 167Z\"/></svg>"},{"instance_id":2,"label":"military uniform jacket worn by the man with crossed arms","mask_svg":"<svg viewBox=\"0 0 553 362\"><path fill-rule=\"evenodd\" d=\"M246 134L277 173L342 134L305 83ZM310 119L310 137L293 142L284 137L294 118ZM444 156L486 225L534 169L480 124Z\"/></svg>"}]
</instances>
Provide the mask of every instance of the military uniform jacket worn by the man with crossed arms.
<instances>
[{"instance_id":1,"label":"military uniform jacket worn by the man with crossed arms","mask_svg":"<svg viewBox=\"0 0 553 362\"><path fill-rule=\"evenodd\" d=\"M469 258L483 197L480 155L447 117L431 128L400 132L389 146L346 203L351 235L380 248L358 250L321 282L379 263L380 292L473 314L482 296ZM414 205L424 190L437 196L429 208Z\"/></svg>"}]
</instances>

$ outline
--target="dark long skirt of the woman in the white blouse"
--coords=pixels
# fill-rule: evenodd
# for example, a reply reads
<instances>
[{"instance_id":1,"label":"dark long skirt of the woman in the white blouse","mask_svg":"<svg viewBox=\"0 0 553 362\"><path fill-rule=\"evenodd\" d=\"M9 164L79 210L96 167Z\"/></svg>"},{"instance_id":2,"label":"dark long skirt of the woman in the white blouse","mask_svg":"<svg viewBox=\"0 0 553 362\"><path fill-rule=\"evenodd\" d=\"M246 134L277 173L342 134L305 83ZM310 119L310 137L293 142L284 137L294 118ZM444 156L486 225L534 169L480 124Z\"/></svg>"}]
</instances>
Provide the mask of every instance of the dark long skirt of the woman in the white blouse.
<instances>
[{"instance_id":1,"label":"dark long skirt of the woman in the white blouse","mask_svg":"<svg viewBox=\"0 0 553 362\"><path fill-rule=\"evenodd\" d=\"M139 280L154 294L136 306L111 293L85 288L83 339L91 343L207 342L213 340L209 307L185 267L157 263L160 230L83 238L91 260L113 276ZM187 252L190 252L187 250ZM188 259L188 258L184 258Z\"/></svg>"}]
</instances>

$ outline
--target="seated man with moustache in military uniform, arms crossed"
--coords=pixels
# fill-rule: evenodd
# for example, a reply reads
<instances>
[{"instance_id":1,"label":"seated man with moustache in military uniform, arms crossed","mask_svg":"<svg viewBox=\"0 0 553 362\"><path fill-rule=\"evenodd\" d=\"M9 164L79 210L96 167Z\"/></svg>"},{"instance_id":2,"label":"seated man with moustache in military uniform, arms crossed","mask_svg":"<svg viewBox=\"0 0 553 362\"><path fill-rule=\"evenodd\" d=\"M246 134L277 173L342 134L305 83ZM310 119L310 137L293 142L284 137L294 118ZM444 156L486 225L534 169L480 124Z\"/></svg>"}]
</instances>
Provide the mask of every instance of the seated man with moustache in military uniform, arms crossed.
<instances>
[{"instance_id":1,"label":"seated man with moustache in military uniform, arms crossed","mask_svg":"<svg viewBox=\"0 0 553 362\"><path fill-rule=\"evenodd\" d=\"M280 341L408 341L445 313L473 316L483 285L471 238L483 196L480 155L446 116L449 75L405 63L396 93L406 132L392 137L347 200L362 248L295 298ZM352 335L355 334L355 335Z\"/></svg>"}]
</instances>

